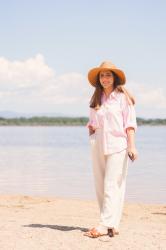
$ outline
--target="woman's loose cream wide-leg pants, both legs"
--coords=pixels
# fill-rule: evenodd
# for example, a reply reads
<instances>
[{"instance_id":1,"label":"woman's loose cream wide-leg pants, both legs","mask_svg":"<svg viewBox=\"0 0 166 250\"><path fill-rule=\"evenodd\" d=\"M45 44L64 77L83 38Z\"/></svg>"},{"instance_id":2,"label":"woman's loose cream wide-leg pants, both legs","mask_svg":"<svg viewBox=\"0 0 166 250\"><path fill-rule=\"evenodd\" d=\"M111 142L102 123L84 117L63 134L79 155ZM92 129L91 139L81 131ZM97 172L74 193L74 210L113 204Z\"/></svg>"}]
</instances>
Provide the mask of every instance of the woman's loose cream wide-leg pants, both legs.
<instances>
[{"instance_id":1,"label":"woman's loose cream wide-leg pants, both legs","mask_svg":"<svg viewBox=\"0 0 166 250\"><path fill-rule=\"evenodd\" d=\"M104 155L102 131L90 136L96 196L100 208L99 225L119 229L128 171L127 149Z\"/></svg>"}]
</instances>

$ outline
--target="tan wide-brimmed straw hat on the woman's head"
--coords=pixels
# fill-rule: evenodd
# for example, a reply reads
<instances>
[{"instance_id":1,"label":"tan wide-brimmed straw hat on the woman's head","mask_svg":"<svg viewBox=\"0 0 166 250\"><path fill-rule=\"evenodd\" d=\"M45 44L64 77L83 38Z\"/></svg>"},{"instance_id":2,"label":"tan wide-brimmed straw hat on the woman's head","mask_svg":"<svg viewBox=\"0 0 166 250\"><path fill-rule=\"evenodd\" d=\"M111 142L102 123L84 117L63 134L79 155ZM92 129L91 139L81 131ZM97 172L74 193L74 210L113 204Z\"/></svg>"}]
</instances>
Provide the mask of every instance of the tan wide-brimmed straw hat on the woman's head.
<instances>
[{"instance_id":1,"label":"tan wide-brimmed straw hat on the woman's head","mask_svg":"<svg viewBox=\"0 0 166 250\"><path fill-rule=\"evenodd\" d=\"M103 70L113 71L119 77L120 84L121 85L125 84L126 77L125 77L124 72L121 69L118 69L112 62L106 61L106 62L103 62L99 67L93 68L88 72L88 80L94 87L98 81L98 75L100 71L103 71Z\"/></svg>"}]
</instances>

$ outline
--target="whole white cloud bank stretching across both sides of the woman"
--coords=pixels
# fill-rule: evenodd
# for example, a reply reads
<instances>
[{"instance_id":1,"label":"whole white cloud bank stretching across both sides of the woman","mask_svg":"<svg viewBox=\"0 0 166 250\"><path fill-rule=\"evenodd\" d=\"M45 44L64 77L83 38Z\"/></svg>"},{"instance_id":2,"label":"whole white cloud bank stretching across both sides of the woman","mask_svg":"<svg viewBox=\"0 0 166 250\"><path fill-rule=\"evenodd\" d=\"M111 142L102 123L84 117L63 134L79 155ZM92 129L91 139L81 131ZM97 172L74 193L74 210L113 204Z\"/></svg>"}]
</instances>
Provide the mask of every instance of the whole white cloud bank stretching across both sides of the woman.
<instances>
[{"instance_id":1,"label":"whole white cloud bank stretching across both sides of the woman","mask_svg":"<svg viewBox=\"0 0 166 250\"><path fill-rule=\"evenodd\" d=\"M129 81L126 87L136 97L140 116L166 113L164 87L135 81ZM93 90L80 73L56 74L42 54L22 61L0 58L1 110L61 112L62 107L67 107L72 109L70 113L77 110L79 114L81 107L87 112Z\"/></svg>"}]
</instances>

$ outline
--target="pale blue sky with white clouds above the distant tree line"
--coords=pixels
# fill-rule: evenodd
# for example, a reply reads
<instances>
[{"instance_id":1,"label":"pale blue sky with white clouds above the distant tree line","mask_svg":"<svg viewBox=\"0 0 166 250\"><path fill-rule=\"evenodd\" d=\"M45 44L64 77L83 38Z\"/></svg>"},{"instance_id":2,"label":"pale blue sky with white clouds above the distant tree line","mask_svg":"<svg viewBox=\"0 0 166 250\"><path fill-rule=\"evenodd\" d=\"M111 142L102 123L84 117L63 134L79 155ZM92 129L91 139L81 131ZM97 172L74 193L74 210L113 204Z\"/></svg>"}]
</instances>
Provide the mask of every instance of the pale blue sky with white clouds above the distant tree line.
<instances>
[{"instance_id":1,"label":"pale blue sky with white clouds above the distant tree line","mask_svg":"<svg viewBox=\"0 0 166 250\"><path fill-rule=\"evenodd\" d=\"M109 60L142 118L166 118L166 1L0 0L0 111L88 116Z\"/></svg>"}]
</instances>

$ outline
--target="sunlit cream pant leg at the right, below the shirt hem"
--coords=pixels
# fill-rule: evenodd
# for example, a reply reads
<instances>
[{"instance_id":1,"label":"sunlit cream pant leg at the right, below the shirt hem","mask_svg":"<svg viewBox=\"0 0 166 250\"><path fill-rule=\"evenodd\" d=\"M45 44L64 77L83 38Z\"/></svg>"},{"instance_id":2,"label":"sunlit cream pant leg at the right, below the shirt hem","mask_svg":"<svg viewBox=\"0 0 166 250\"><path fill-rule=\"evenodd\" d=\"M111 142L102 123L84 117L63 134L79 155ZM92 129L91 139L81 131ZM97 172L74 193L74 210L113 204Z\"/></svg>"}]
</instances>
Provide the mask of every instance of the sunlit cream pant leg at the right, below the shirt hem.
<instances>
[{"instance_id":1,"label":"sunlit cream pant leg at the right, below the shirt hem","mask_svg":"<svg viewBox=\"0 0 166 250\"><path fill-rule=\"evenodd\" d=\"M127 150L107 156L101 225L118 230L124 203L127 170Z\"/></svg>"}]
</instances>

